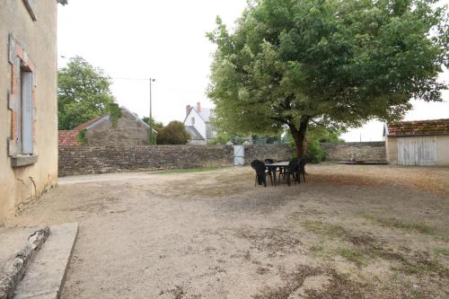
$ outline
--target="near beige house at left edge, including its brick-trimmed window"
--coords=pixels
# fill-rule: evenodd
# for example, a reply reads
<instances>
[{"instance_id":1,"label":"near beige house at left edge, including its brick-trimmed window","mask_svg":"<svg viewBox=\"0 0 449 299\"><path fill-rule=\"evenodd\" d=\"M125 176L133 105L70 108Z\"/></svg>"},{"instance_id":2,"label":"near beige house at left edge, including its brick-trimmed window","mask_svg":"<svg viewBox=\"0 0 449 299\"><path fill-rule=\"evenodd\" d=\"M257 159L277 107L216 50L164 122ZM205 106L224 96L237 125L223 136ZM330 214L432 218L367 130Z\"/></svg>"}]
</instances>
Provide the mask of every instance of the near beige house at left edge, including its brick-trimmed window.
<instances>
[{"instance_id":1,"label":"near beige house at left edge, including its brick-trimmed window","mask_svg":"<svg viewBox=\"0 0 449 299\"><path fill-rule=\"evenodd\" d=\"M0 225L57 184L57 3L0 1Z\"/></svg>"}]
</instances>

